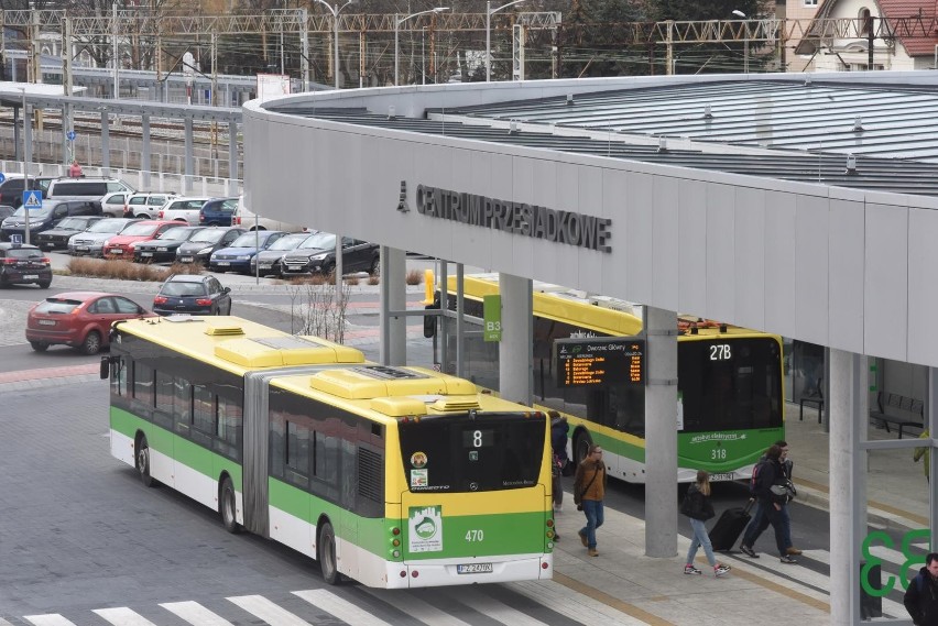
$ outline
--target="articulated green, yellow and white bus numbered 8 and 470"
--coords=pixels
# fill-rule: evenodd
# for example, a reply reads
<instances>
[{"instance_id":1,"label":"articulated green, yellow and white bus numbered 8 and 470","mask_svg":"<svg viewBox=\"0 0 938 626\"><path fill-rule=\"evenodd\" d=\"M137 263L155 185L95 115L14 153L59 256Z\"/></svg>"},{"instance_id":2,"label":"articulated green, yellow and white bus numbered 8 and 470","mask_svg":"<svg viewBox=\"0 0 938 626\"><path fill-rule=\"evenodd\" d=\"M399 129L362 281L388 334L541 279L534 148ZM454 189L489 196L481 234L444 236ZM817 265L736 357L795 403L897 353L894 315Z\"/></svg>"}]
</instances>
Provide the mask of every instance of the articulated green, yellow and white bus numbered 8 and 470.
<instances>
[{"instance_id":1,"label":"articulated green, yellow and white bus numbered 8 and 470","mask_svg":"<svg viewBox=\"0 0 938 626\"><path fill-rule=\"evenodd\" d=\"M236 317L114 325L111 453L375 587L549 579L544 413Z\"/></svg>"}]
</instances>

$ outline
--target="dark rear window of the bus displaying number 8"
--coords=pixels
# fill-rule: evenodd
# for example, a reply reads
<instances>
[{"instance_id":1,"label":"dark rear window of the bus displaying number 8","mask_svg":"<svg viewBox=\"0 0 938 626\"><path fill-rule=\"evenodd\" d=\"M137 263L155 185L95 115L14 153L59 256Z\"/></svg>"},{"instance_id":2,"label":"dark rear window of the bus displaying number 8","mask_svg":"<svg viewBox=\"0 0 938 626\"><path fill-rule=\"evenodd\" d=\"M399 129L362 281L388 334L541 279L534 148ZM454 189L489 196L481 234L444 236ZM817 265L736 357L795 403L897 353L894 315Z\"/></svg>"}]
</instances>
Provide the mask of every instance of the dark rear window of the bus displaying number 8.
<instances>
[{"instance_id":1,"label":"dark rear window of the bus displaying number 8","mask_svg":"<svg viewBox=\"0 0 938 626\"><path fill-rule=\"evenodd\" d=\"M402 421L401 455L412 492L484 492L537 484L544 414L468 414Z\"/></svg>"}]
</instances>

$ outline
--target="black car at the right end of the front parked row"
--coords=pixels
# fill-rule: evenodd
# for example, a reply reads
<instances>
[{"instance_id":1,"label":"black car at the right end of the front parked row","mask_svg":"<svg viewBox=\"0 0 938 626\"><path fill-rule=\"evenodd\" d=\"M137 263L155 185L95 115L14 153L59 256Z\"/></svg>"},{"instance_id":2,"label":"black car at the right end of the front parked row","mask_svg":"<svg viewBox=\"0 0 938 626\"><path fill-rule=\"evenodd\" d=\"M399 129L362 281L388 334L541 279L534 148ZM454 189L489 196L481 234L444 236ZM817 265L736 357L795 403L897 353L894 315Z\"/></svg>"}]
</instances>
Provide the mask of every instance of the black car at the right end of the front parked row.
<instances>
[{"instance_id":1,"label":"black car at the right end of the front parked row","mask_svg":"<svg viewBox=\"0 0 938 626\"><path fill-rule=\"evenodd\" d=\"M350 237L342 238L342 273L377 274L381 264L380 246ZM317 232L303 242L303 248L283 257L283 275L331 274L336 267L336 235Z\"/></svg>"}]
</instances>

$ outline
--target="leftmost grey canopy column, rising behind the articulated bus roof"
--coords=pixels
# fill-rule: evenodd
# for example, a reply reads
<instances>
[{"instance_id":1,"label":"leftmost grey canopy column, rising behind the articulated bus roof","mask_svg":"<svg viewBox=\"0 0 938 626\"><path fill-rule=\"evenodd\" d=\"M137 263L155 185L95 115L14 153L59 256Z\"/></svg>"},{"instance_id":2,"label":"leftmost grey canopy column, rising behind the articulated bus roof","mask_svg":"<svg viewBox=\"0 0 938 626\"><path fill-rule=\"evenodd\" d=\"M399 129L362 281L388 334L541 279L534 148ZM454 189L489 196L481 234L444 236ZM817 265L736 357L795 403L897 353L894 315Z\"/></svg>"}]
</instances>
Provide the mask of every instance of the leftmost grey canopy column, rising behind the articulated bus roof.
<instances>
[{"instance_id":1,"label":"leftmost grey canopy column, rising behind the articulated bus roof","mask_svg":"<svg viewBox=\"0 0 938 626\"><path fill-rule=\"evenodd\" d=\"M397 248L381 246L381 350L382 365L407 364L407 318L392 315L407 308L406 254Z\"/></svg>"}]
</instances>

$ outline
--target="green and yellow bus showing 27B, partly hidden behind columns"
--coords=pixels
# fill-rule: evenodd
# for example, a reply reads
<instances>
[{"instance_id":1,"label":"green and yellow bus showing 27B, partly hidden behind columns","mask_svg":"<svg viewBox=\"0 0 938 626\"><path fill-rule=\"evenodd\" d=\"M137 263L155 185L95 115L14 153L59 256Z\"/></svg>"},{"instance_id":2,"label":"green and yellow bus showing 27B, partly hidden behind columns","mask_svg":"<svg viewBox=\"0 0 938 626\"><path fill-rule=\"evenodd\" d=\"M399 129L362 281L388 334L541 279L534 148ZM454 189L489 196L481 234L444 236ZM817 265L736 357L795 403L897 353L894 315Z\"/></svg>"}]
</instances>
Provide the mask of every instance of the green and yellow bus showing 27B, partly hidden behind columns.
<instances>
[{"instance_id":1,"label":"green and yellow bus showing 27B, partly hidden behind columns","mask_svg":"<svg viewBox=\"0 0 938 626\"><path fill-rule=\"evenodd\" d=\"M452 277L448 290L448 306L455 310ZM483 297L498 293L498 274L466 276L465 314L481 318ZM535 407L567 416L575 461L598 443L603 447L610 476L644 483L645 422L670 419L677 428L679 482L692 482L699 469L710 472L711 480L733 481L751 477L766 448L784 438L781 337L678 318L676 415L652 416L645 413L644 378L636 371L643 367L644 358L642 339L636 340L642 332L640 306L535 282L533 312ZM444 325L444 329L447 356L438 354L436 360L445 361L445 372L456 372L455 323ZM602 361L608 370L602 377L561 375L565 361L558 359L559 347L587 350L601 348L603 342L634 358L618 365ZM441 345L438 342L439 352ZM483 341L481 333L467 336L465 376L481 387L498 389L498 347Z\"/></svg>"}]
</instances>

